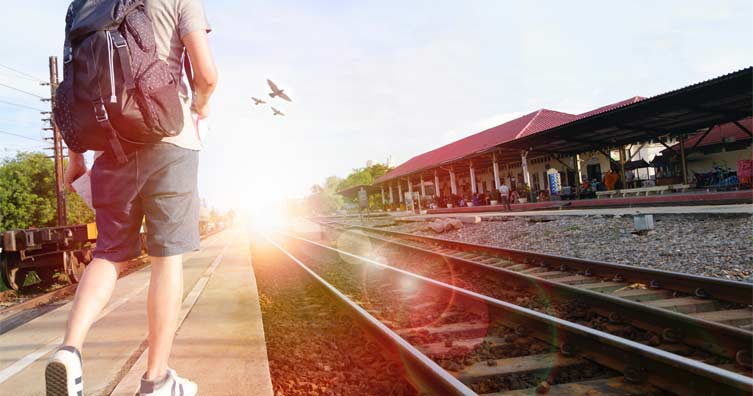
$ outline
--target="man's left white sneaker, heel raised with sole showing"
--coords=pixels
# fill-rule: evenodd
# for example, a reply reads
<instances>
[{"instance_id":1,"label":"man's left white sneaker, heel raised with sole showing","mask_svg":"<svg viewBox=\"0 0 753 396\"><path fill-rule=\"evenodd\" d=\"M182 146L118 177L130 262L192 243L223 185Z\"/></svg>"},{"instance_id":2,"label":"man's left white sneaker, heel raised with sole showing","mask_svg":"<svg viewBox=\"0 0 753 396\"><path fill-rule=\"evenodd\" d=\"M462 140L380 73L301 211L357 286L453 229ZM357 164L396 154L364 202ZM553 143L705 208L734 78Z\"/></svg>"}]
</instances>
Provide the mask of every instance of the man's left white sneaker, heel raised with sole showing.
<instances>
[{"instance_id":1,"label":"man's left white sneaker, heel raised with sole showing","mask_svg":"<svg viewBox=\"0 0 753 396\"><path fill-rule=\"evenodd\" d=\"M47 396L82 396L81 352L72 346L55 351L47 361L44 380Z\"/></svg>"}]
</instances>

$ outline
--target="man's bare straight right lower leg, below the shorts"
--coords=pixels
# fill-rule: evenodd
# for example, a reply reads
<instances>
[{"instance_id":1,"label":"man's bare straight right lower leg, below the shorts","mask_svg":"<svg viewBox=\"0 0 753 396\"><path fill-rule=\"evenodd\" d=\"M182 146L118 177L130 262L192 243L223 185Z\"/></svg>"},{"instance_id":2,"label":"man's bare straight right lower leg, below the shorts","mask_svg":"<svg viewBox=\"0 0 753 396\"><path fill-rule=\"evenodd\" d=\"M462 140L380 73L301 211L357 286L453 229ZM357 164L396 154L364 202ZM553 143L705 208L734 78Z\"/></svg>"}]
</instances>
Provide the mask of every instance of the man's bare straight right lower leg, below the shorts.
<instances>
[{"instance_id":1,"label":"man's bare straight right lower leg, below the shorts","mask_svg":"<svg viewBox=\"0 0 753 396\"><path fill-rule=\"evenodd\" d=\"M167 360L178 326L183 298L183 256L149 259L152 263L147 300L149 355L144 379L155 380L167 372Z\"/></svg>"}]
</instances>

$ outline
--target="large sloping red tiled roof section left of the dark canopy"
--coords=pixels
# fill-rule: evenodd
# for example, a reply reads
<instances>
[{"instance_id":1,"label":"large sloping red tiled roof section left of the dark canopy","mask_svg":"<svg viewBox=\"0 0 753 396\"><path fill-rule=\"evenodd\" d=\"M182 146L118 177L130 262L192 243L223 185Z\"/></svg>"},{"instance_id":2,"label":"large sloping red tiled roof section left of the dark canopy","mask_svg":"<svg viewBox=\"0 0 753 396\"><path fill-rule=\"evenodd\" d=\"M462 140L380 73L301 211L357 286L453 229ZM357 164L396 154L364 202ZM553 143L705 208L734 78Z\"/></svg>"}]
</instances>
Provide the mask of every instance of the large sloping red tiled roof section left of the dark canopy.
<instances>
[{"instance_id":1,"label":"large sloping red tiled roof section left of the dark canopy","mask_svg":"<svg viewBox=\"0 0 753 396\"><path fill-rule=\"evenodd\" d=\"M541 109L534 111L504 124L417 155L379 177L374 183L382 183L420 170L436 167L498 144L564 124L576 118L577 116L573 114L553 110Z\"/></svg>"}]
</instances>

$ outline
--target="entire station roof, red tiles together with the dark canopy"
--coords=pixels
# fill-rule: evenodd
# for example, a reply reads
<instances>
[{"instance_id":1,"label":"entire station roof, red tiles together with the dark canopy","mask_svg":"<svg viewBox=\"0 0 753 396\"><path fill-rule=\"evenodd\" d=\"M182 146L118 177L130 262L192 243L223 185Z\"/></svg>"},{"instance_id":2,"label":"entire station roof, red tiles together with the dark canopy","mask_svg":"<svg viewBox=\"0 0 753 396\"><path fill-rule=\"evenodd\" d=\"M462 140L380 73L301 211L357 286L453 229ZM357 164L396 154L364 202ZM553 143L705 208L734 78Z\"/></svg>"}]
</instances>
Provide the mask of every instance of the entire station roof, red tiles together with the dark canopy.
<instances>
[{"instance_id":1,"label":"entire station roof, red tiles together with the dark canopy","mask_svg":"<svg viewBox=\"0 0 753 396\"><path fill-rule=\"evenodd\" d=\"M492 152L498 153L502 161L519 161L523 150L529 152L529 157L569 155L693 133L750 117L752 87L753 68L746 68L651 98L633 97L579 115L541 109L415 156L374 183L428 173L461 159L488 167Z\"/></svg>"}]
</instances>

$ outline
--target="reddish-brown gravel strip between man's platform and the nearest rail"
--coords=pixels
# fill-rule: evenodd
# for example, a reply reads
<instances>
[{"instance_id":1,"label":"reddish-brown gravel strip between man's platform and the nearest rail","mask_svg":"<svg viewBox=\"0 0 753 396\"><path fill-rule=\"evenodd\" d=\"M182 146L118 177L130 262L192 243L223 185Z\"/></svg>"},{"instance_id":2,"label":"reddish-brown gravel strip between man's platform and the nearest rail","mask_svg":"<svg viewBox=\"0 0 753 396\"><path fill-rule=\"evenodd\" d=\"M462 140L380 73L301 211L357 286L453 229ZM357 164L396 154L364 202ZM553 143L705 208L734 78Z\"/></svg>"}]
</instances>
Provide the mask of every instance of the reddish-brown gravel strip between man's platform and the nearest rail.
<instances>
[{"instance_id":1,"label":"reddish-brown gravel strip between man's platform and the nearest rail","mask_svg":"<svg viewBox=\"0 0 753 396\"><path fill-rule=\"evenodd\" d=\"M287 257L254 252L275 396L409 396L402 365Z\"/></svg>"}]
</instances>

